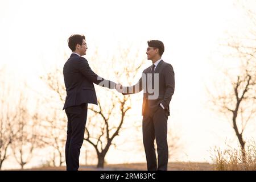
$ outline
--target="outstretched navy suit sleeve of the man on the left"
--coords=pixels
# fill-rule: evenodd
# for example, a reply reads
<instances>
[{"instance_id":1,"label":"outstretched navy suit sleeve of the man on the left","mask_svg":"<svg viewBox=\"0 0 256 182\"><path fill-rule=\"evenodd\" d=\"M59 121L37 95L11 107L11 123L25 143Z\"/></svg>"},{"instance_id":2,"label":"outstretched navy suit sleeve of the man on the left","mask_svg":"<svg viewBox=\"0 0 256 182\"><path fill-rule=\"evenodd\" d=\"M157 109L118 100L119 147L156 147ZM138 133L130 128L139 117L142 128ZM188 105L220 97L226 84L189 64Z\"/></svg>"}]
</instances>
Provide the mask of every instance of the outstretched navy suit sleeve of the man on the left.
<instances>
[{"instance_id":1,"label":"outstretched navy suit sleeve of the man on the left","mask_svg":"<svg viewBox=\"0 0 256 182\"><path fill-rule=\"evenodd\" d=\"M104 86L110 89L115 88L115 82L106 80L94 73L88 64L88 61L84 57L81 57L81 59L79 59L77 63L77 69L79 69L82 75L84 75L89 81L93 82L94 84Z\"/></svg>"}]
</instances>

